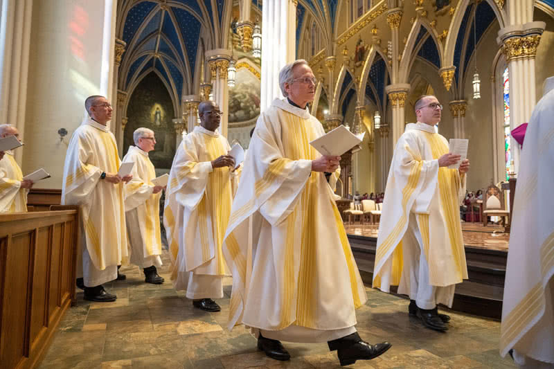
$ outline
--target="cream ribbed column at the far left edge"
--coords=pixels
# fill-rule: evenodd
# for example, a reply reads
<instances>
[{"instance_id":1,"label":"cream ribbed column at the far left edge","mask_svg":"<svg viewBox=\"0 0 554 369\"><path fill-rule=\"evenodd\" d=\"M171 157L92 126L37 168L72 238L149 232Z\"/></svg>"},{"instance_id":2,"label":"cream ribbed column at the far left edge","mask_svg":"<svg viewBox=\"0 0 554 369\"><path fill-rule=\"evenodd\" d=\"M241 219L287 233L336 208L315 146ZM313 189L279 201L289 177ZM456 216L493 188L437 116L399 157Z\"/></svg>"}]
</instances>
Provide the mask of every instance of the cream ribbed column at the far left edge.
<instances>
[{"instance_id":1,"label":"cream ribbed column at the far left edge","mask_svg":"<svg viewBox=\"0 0 554 369\"><path fill-rule=\"evenodd\" d=\"M23 139L32 10L32 0L0 1L0 124L15 125ZM15 150L19 164L22 156Z\"/></svg>"}]
</instances>

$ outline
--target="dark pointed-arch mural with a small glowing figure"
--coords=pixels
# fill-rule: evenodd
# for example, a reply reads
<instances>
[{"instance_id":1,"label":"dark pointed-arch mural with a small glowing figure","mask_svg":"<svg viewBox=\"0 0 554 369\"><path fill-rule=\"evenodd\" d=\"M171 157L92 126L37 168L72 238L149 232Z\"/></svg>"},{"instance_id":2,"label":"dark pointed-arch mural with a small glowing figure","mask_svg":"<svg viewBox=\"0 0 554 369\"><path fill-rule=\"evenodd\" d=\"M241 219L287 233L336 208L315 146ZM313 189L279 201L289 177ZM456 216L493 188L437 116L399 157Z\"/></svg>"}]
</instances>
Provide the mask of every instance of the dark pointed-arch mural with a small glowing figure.
<instances>
[{"instance_id":1,"label":"dark pointed-arch mural with a small glowing figure","mask_svg":"<svg viewBox=\"0 0 554 369\"><path fill-rule=\"evenodd\" d=\"M136 87L127 107L127 125L123 134L123 156L133 145L133 132L139 127L154 131L156 148L150 152L150 161L157 169L170 169L175 156L175 129L172 127L173 104L166 86L154 72Z\"/></svg>"}]
</instances>

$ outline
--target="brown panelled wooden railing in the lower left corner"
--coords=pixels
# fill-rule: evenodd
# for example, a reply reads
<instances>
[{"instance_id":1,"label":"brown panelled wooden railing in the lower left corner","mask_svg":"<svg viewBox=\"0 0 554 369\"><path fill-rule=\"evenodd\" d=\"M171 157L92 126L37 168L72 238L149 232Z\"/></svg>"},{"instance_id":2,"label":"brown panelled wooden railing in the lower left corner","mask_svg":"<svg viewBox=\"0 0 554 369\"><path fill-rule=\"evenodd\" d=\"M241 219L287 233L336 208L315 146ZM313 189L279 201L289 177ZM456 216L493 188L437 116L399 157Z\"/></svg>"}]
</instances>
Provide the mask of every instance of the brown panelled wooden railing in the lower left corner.
<instances>
[{"instance_id":1,"label":"brown panelled wooden railing in the lower left corner","mask_svg":"<svg viewBox=\"0 0 554 369\"><path fill-rule=\"evenodd\" d=\"M0 367L33 368L75 301L78 208L0 215Z\"/></svg>"}]
</instances>

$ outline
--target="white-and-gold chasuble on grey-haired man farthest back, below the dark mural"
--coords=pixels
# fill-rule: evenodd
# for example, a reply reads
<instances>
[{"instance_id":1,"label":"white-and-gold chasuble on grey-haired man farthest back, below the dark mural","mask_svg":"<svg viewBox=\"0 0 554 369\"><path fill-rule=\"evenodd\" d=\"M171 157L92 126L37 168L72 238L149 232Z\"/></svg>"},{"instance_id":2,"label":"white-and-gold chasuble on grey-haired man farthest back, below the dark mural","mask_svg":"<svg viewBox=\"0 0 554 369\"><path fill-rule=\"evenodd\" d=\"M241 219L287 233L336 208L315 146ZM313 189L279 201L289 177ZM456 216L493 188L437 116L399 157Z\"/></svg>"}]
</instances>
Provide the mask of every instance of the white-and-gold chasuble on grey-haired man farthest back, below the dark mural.
<instances>
[{"instance_id":1,"label":"white-and-gold chasuble on grey-haired man farthest back, below the dark mural","mask_svg":"<svg viewBox=\"0 0 554 369\"><path fill-rule=\"evenodd\" d=\"M133 179L125 185L125 213L127 232L131 243L131 262L143 267L142 260L161 255L160 197L161 192L152 194L156 178L154 164L139 147L129 146L123 163L134 163ZM137 234L138 233L138 234ZM140 235L140 237L132 237ZM136 253L139 255L136 255ZM157 266L160 266L157 262Z\"/></svg>"}]
</instances>

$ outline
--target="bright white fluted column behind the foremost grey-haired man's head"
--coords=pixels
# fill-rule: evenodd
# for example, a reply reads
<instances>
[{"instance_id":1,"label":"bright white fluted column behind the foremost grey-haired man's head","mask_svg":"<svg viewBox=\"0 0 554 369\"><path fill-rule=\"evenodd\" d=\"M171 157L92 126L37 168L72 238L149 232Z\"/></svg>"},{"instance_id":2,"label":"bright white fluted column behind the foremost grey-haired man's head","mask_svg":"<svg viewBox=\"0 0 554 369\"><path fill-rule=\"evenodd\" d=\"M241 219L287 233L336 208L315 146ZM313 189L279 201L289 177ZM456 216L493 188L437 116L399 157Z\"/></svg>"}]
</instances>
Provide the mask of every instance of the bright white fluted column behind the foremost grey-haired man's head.
<instances>
[{"instance_id":1,"label":"bright white fluted column behind the foremost grey-haired man's head","mask_svg":"<svg viewBox=\"0 0 554 369\"><path fill-rule=\"evenodd\" d=\"M262 96L260 111L281 98L279 71L296 59L298 0L265 1L262 9Z\"/></svg>"}]
</instances>

